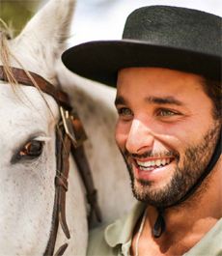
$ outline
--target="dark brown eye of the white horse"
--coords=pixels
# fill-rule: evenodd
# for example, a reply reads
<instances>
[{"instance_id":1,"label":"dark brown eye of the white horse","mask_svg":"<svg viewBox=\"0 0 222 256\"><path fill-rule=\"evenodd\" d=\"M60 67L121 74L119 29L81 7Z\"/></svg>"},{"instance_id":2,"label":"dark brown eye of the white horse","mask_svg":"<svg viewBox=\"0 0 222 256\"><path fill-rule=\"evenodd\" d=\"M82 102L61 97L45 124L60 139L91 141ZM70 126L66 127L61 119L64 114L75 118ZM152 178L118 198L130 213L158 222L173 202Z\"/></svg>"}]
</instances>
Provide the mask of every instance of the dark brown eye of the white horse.
<instances>
[{"instance_id":1,"label":"dark brown eye of the white horse","mask_svg":"<svg viewBox=\"0 0 222 256\"><path fill-rule=\"evenodd\" d=\"M32 140L19 152L19 156L40 156L43 149L43 141Z\"/></svg>"}]
</instances>

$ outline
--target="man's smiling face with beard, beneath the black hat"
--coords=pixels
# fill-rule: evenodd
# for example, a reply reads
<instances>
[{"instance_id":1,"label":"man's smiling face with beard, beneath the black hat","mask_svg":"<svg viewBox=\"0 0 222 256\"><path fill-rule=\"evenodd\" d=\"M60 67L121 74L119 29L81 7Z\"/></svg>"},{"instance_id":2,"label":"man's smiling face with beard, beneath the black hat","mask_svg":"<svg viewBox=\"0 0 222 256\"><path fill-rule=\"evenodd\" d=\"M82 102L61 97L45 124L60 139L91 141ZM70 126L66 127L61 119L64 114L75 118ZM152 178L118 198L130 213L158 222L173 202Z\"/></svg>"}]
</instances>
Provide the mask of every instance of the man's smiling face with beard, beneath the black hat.
<instances>
[{"instance_id":1,"label":"man's smiling face with beard, beneath the black hat","mask_svg":"<svg viewBox=\"0 0 222 256\"><path fill-rule=\"evenodd\" d=\"M137 199L164 207L200 178L220 130L198 75L155 68L119 71L116 141Z\"/></svg>"}]
</instances>

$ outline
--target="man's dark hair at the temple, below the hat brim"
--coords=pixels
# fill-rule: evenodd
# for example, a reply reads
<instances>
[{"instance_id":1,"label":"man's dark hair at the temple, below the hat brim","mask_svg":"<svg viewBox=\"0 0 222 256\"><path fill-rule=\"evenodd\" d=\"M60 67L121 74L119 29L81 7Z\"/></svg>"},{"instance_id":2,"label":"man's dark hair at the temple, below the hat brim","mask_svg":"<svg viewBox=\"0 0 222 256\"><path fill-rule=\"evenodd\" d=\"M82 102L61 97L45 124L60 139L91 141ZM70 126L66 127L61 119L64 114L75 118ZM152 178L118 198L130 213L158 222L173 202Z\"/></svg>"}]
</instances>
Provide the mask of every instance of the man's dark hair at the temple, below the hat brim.
<instances>
[{"instance_id":1,"label":"man's dark hair at the temple, below the hat brim","mask_svg":"<svg viewBox=\"0 0 222 256\"><path fill-rule=\"evenodd\" d=\"M208 95L210 100L213 103L212 109L212 117L214 120L222 121L222 110L221 110L221 103L222 103L222 88L221 82L210 80L204 77L202 81L202 85L204 87L205 93Z\"/></svg>"}]
</instances>

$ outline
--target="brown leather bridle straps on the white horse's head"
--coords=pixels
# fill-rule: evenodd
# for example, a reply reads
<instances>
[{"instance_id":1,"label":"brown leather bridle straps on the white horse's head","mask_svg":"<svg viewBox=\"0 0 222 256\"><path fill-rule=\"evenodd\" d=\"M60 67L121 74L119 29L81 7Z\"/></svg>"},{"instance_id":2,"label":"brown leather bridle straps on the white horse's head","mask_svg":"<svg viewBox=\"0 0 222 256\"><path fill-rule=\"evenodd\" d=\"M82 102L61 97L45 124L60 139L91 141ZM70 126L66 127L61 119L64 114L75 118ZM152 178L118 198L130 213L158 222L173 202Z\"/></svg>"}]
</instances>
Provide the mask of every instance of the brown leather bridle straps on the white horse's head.
<instances>
[{"instance_id":1,"label":"brown leather bridle straps on the white horse's head","mask_svg":"<svg viewBox=\"0 0 222 256\"><path fill-rule=\"evenodd\" d=\"M25 71L17 68L11 69L17 83L26 86L34 86L32 80ZM91 205L89 219L92 220L93 213L96 213L97 220L101 221L101 213L97 204L97 189L95 189L90 166L84 152L83 142L87 139L87 136L78 118L77 112L72 109L68 94L55 88L39 74L31 71L29 71L29 73L34 78L42 92L50 95L57 101L61 113L61 121L59 122L60 131L57 129L56 132L57 170L55 177L55 201L52 233L43 254L53 255L59 223L61 224L66 237L68 239L70 238L66 220L66 192L68 191L70 152L75 159L75 163L86 188L88 203ZM0 80L9 82L5 75L3 66L0 66ZM55 253L55 256L63 255L67 247L68 243L62 245Z\"/></svg>"}]
</instances>

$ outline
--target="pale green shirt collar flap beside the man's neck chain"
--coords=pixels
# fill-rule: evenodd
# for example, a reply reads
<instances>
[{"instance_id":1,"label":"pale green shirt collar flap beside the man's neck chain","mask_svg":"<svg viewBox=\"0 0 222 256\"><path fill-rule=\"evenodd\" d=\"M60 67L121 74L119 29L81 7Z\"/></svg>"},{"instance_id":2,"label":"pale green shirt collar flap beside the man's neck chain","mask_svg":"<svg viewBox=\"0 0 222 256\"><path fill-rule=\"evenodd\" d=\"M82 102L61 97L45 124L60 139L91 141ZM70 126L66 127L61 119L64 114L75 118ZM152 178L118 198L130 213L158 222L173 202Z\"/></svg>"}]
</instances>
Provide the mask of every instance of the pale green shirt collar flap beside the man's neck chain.
<instances>
[{"instance_id":1,"label":"pale green shirt collar flap beside the man's neck chain","mask_svg":"<svg viewBox=\"0 0 222 256\"><path fill-rule=\"evenodd\" d=\"M130 213L107 226L104 237L109 246L115 247L117 244L123 244L131 239L136 222L146 207L146 204L138 202Z\"/></svg>"}]
</instances>

